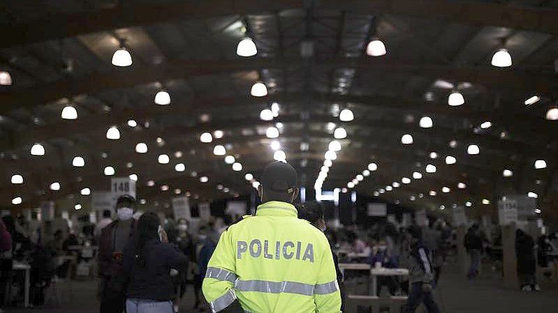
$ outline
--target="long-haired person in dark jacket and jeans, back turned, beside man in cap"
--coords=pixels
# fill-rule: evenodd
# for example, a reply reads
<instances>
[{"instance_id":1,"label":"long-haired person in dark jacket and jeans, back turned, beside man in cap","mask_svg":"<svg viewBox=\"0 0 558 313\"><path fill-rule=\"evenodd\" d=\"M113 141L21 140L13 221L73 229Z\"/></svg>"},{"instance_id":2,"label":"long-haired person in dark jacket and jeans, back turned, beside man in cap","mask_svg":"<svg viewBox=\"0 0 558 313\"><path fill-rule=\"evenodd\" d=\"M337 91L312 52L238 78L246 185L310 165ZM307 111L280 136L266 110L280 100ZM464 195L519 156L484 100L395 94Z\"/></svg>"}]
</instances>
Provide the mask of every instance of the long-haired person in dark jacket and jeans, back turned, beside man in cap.
<instances>
[{"instance_id":1,"label":"long-haired person in dark jacket and jeans, back turned, beside man in cap","mask_svg":"<svg viewBox=\"0 0 558 313\"><path fill-rule=\"evenodd\" d=\"M126 244L122 269L127 281L127 313L174 312L176 294L171 275L187 260L178 247L165 242L161 229L159 217L147 212L138 221L136 236Z\"/></svg>"}]
</instances>

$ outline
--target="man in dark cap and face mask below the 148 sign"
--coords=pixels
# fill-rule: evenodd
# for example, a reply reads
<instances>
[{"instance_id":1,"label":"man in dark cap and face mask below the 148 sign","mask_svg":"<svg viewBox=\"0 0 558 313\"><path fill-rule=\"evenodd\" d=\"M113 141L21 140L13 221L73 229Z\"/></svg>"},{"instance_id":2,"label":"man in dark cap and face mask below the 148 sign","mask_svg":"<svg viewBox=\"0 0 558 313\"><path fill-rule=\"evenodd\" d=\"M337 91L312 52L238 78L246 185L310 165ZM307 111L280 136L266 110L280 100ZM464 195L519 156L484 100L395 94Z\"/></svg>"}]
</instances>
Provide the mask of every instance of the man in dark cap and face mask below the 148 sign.
<instances>
[{"instance_id":1,"label":"man in dark cap and face mask below the 148 sign","mask_svg":"<svg viewBox=\"0 0 558 313\"><path fill-rule=\"evenodd\" d=\"M118 219L101 230L98 237L98 276L101 313L121 313L126 302L122 282L122 253L129 238L135 234L133 219L135 199L124 195L117 199Z\"/></svg>"}]
</instances>

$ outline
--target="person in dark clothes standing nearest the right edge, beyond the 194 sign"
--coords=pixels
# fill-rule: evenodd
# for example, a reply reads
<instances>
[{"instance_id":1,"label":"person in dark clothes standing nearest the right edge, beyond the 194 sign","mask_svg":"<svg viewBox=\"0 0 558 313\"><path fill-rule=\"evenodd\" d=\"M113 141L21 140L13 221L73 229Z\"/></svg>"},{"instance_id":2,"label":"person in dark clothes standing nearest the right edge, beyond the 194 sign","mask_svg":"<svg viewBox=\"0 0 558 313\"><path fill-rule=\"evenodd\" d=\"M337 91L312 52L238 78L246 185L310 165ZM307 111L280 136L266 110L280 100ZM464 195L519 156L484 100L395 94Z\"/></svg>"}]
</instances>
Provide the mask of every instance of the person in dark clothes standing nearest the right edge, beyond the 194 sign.
<instances>
[{"instance_id":1,"label":"person in dark clothes standing nearest the right edge, beyond the 194 sign","mask_svg":"<svg viewBox=\"0 0 558 313\"><path fill-rule=\"evenodd\" d=\"M517 274L522 281L521 289L523 291L541 291L536 284L535 242L521 229L515 231L515 255L517 257Z\"/></svg>"}]
</instances>

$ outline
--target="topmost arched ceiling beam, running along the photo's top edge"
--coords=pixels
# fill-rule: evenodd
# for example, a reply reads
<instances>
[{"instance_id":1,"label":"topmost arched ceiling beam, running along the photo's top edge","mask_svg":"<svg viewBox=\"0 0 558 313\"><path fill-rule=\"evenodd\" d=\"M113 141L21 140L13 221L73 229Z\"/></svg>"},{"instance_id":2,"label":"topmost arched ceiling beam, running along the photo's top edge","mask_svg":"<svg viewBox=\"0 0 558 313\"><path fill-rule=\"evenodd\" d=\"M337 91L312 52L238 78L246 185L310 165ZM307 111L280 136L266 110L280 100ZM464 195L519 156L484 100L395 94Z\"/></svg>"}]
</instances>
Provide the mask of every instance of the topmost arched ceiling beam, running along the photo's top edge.
<instances>
[{"instance_id":1,"label":"topmost arched ceiling beam, running along the photo's top edge","mask_svg":"<svg viewBox=\"0 0 558 313\"><path fill-rule=\"evenodd\" d=\"M80 13L49 15L44 20L20 22L0 29L0 48L38 43L85 33L132 26L178 22L226 15L270 14L274 11L305 9L306 1L214 0L187 3L127 4ZM321 0L316 8L346 10L358 14L394 14L447 20L474 26L504 26L558 34L558 10L528 8L505 3L473 3L443 0Z\"/></svg>"}]
</instances>

